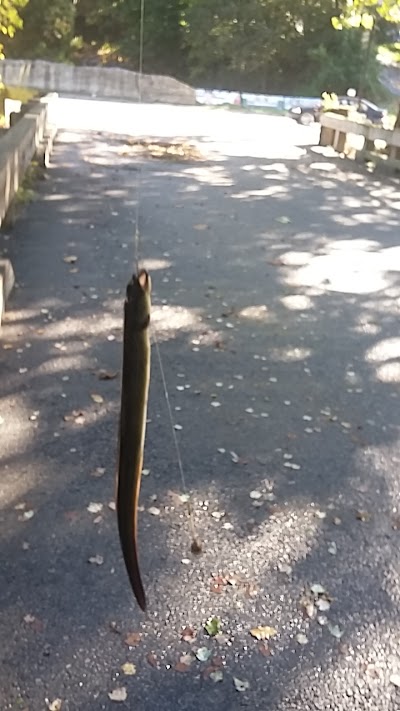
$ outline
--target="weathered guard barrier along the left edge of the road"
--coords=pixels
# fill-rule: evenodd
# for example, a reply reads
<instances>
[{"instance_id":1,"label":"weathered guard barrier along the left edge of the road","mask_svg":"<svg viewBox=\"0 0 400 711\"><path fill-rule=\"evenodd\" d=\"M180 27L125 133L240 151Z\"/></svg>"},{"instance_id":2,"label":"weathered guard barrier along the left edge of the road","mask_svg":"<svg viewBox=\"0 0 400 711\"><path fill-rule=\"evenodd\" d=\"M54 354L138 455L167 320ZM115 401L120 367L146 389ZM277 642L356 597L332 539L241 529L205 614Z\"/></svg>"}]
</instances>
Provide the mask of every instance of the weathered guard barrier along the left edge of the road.
<instances>
[{"instance_id":1,"label":"weathered guard barrier along the left edge of the road","mask_svg":"<svg viewBox=\"0 0 400 711\"><path fill-rule=\"evenodd\" d=\"M12 209L13 199L32 159L37 156L42 164L48 161L47 144L50 137L54 138L54 128L47 122L48 102L52 99L54 95L29 102L21 114L14 115L14 125L0 139L0 226ZM13 284L11 262L0 258L0 325Z\"/></svg>"}]
</instances>

